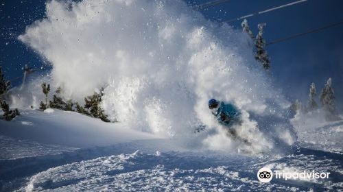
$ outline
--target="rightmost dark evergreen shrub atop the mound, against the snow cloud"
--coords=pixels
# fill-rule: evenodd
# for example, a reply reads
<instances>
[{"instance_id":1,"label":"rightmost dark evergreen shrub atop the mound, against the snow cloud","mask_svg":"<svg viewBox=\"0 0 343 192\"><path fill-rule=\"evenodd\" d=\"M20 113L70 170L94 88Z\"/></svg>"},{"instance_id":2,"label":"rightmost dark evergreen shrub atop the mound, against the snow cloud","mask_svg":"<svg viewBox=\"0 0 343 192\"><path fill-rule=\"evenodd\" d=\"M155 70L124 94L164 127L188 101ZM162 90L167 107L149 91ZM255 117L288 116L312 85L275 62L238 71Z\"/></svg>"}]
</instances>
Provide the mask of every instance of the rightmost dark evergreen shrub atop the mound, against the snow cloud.
<instances>
[{"instance_id":1,"label":"rightmost dark evergreen shrub atop the mound, against the snow cloud","mask_svg":"<svg viewBox=\"0 0 343 192\"><path fill-rule=\"evenodd\" d=\"M107 115L104 114L104 110L101 108L100 103L102 101L102 96L104 88L100 91L100 93L94 93L91 96L84 98L84 108L88 109L91 113L92 117L102 119L102 121L110 122L109 119L107 119Z\"/></svg>"}]
</instances>

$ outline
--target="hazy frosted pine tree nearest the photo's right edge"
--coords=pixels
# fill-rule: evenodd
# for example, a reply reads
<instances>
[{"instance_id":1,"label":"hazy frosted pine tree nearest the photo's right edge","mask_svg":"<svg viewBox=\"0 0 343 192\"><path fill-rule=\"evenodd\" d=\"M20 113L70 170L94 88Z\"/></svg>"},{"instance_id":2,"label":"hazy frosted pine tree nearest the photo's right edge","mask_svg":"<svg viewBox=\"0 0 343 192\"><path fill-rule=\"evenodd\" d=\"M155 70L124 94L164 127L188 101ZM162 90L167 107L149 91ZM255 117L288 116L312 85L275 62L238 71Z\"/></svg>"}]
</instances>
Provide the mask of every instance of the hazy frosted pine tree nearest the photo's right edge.
<instances>
[{"instance_id":1,"label":"hazy frosted pine tree nearest the photo's right edge","mask_svg":"<svg viewBox=\"0 0 343 192\"><path fill-rule=\"evenodd\" d=\"M327 80L327 84L324 85L320 93L320 102L327 112L331 115L335 112L335 94L333 88L331 87L331 77Z\"/></svg>"}]
</instances>

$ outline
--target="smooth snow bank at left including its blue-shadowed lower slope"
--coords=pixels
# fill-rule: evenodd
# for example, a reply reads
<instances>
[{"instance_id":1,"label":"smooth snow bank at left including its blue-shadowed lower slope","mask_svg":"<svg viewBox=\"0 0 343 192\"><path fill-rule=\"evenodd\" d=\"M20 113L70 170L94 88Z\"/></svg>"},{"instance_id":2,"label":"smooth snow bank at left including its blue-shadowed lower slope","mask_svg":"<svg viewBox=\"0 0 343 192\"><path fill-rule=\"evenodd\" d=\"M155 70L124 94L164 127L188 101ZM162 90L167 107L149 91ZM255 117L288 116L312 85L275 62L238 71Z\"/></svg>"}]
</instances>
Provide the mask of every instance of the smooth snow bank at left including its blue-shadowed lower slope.
<instances>
[{"instance_id":1,"label":"smooth snow bank at left including its blue-shadowed lower slope","mask_svg":"<svg viewBox=\"0 0 343 192\"><path fill-rule=\"evenodd\" d=\"M52 109L44 112L23 109L21 116L14 120L1 120L0 138L0 183L4 186L10 184L10 189L15 186L13 183L21 183L21 179L36 171L113 153L111 147L97 147L161 139L145 132L129 130L122 123L104 123L76 112ZM132 150L126 147L125 152L140 148L134 146ZM2 189L8 191L8 187Z\"/></svg>"}]
</instances>

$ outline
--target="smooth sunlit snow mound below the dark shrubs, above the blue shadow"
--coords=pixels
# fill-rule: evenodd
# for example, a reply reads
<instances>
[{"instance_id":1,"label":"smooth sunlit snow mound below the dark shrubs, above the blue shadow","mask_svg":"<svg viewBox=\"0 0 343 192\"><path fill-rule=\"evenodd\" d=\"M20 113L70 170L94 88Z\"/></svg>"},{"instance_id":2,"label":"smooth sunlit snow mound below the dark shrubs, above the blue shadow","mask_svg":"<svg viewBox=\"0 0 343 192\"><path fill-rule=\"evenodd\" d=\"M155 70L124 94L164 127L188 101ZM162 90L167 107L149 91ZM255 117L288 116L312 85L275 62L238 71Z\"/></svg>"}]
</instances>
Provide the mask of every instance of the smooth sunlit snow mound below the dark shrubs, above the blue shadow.
<instances>
[{"instance_id":1,"label":"smooth sunlit snow mound below the dark shrubs, above the blue shadow","mask_svg":"<svg viewBox=\"0 0 343 192\"><path fill-rule=\"evenodd\" d=\"M100 119L80 115L77 112L56 109L52 113L45 111L21 110L21 116L16 119L0 121L0 134L12 139L33 142L27 145L36 146L34 144L36 142L68 147L93 147L159 138L149 133L130 130L123 123L104 123ZM10 140L6 139L6 142L12 143ZM21 143L25 145L26 141ZM11 150L8 147L6 152Z\"/></svg>"}]
</instances>

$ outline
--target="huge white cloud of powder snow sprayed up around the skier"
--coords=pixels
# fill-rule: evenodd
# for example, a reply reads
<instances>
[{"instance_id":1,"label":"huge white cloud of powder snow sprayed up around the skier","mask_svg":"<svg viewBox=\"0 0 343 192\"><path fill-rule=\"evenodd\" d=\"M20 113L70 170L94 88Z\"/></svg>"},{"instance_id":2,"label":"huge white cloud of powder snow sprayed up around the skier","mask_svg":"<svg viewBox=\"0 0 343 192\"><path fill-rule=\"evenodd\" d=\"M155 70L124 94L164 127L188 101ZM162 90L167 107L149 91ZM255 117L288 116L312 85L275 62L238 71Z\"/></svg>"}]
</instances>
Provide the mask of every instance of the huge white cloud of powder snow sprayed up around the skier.
<instances>
[{"instance_id":1,"label":"huge white cloud of powder snow sprayed up around the skier","mask_svg":"<svg viewBox=\"0 0 343 192\"><path fill-rule=\"evenodd\" d=\"M49 1L45 19L19 40L49 60L50 83L65 97L80 101L104 87L109 118L129 128L189 147L242 146L207 108L216 98L242 111L238 132L253 152L296 139L289 102L255 61L246 34L206 21L182 1ZM194 134L199 125L206 130Z\"/></svg>"}]
</instances>

